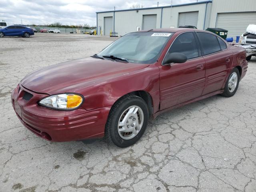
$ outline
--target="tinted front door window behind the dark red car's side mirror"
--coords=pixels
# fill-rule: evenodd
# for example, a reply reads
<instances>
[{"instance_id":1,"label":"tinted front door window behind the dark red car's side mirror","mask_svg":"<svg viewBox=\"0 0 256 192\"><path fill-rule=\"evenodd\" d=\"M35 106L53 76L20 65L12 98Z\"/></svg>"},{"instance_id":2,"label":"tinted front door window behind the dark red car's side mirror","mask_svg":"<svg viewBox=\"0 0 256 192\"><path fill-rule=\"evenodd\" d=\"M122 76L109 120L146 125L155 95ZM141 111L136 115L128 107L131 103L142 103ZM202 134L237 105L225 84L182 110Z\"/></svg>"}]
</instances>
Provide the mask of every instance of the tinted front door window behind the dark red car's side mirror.
<instances>
[{"instance_id":1,"label":"tinted front door window behind the dark red car's side mirror","mask_svg":"<svg viewBox=\"0 0 256 192\"><path fill-rule=\"evenodd\" d=\"M182 33L174 40L168 54L175 52L183 53L188 59L197 58L199 56L193 32Z\"/></svg>"}]
</instances>

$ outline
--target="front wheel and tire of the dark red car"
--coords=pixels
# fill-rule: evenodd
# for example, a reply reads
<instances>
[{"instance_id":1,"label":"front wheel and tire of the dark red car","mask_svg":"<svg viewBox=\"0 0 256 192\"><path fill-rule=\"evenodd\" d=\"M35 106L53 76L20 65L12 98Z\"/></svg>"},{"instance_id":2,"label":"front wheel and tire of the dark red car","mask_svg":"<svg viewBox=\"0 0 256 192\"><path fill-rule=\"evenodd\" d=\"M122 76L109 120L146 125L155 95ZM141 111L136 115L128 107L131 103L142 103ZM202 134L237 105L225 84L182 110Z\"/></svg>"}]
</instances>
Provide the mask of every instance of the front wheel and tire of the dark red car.
<instances>
[{"instance_id":1,"label":"front wheel and tire of the dark red car","mask_svg":"<svg viewBox=\"0 0 256 192\"><path fill-rule=\"evenodd\" d=\"M108 115L105 128L108 142L122 148L135 144L144 134L148 118L148 106L142 98L134 95L120 98ZM123 122L124 126L120 126Z\"/></svg>"}]
</instances>

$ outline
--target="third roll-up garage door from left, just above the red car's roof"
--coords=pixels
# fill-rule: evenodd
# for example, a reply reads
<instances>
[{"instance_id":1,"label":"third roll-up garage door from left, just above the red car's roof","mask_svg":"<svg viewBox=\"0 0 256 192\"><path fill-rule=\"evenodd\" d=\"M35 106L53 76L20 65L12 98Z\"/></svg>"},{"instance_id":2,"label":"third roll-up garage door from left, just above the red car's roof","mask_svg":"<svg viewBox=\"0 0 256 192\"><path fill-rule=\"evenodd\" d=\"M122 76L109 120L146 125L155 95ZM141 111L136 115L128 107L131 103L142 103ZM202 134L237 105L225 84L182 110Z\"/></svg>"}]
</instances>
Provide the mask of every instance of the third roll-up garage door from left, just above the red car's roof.
<instances>
[{"instance_id":1,"label":"third roll-up garage door from left, just above the red car's roof","mask_svg":"<svg viewBox=\"0 0 256 192\"><path fill-rule=\"evenodd\" d=\"M179 13L179 26L192 25L197 27L198 11Z\"/></svg>"}]
</instances>

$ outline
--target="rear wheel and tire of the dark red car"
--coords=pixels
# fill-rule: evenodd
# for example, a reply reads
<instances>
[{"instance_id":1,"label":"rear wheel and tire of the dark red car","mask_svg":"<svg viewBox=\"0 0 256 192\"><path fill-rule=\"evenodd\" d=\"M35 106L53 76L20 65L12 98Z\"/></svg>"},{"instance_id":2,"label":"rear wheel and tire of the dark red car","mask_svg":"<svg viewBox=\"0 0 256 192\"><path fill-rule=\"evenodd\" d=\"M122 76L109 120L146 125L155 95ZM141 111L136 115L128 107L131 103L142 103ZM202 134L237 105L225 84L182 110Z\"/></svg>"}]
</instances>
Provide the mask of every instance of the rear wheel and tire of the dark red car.
<instances>
[{"instance_id":1,"label":"rear wheel and tire of the dark red car","mask_svg":"<svg viewBox=\"0 0 256 192\"><path fill-rule=\"evenodd\" d=\"M238 68L234 68L228 76L228 79L225 84L224 92L221 95L224 97L232 97L236 93L236 90L238 89L239 81L240 81L239 70Z\"/></svg>"}]
</instances>

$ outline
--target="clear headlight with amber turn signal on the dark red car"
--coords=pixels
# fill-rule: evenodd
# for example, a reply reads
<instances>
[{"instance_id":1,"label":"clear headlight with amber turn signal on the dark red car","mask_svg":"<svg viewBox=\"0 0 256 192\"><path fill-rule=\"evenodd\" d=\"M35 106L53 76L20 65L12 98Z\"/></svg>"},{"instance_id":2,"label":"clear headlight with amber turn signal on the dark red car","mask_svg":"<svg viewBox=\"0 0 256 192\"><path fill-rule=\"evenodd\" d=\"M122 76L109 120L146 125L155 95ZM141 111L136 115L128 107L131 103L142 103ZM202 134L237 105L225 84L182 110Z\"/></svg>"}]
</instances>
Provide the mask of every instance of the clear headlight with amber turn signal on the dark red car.
<instances>
[{"instance_id":1,"label":"clear headlight with amber turn signal on the dark red car","mask_svg":"<svg viewBox=\"0 0 256 192\"><path fill-rule=\"evenodd\" d=\"M38 104L53 109L72 110L78 108L82 102L82 96L78 94L65 93L43 98L38 102Z\"/></svg>"}]
</instances>

